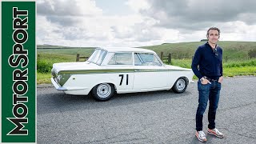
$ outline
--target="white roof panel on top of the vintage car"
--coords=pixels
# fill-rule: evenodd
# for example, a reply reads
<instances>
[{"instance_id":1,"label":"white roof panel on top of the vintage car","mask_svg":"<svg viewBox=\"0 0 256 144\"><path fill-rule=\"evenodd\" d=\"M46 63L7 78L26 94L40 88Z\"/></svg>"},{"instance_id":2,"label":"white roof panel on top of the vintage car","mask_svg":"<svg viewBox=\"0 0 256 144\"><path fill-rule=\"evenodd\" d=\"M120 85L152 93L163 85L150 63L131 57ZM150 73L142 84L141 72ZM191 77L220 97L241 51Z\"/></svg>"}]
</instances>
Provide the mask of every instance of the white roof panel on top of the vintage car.
<instances>
[{"instance_id":1,"label":"white roof panel on top of the vintage car","mask_svg":"<svg viewBox=\"0 0 256 144\"><path fill-rule=\"evenodd\" d=\"M147 52L155 53L153 50L147 50L142 48L133 48L133 47L98 47L97 49L106 50L108 52Z\"/></svg>"}]
</instances>

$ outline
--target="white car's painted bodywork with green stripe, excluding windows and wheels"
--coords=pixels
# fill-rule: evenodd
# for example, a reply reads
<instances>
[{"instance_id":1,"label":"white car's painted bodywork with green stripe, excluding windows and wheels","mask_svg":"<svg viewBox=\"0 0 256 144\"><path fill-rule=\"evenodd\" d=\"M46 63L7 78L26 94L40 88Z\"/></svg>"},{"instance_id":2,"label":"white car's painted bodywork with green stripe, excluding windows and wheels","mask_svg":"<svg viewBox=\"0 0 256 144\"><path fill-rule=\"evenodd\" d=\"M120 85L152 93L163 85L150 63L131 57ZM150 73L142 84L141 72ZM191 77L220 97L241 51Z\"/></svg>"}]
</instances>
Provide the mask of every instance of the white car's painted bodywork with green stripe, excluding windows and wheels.
<instances>
[{"instance_id":1,"label":"white car's painted bodywork with green stripe, excluding windows and wheels","mask_svg":"<svg viewBox=\"0 0 256 144\"><path fill-rule=\"evenodd\" d=\"M118 94L154 90L170 90L178 78L191 82L193 71L190 69L168 66L162 63L152 50L137 48L108 49L100 65L93 62L54 63L51 82L57 90L66 94L87 95L90 90L101 83L110 83ZM116 53L131 53L129 65L109 65ZM154 54L157 66L135 66L135 54ZM149 63L147 63L149 64ZM150 64L149 64L150 65Z\"/></svg>"}]
</instances>

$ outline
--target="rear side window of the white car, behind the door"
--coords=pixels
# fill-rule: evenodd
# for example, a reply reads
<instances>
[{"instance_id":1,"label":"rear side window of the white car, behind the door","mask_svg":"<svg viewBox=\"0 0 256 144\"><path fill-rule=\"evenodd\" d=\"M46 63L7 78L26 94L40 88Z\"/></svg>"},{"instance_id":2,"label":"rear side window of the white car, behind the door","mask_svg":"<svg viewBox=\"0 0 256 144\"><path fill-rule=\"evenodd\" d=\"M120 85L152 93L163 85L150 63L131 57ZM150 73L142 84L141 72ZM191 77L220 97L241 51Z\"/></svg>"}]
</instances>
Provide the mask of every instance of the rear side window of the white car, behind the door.
<instances>
[{"instance_id":1,"label":"rear side window of the white car, behind the door","mask_svg":"<svg viewBox=\"0 0 256 144\"><path fill-rule=\"evenodd\" d=\"M115 53L110 59L109 65L132 65L132 53Z\"/></svg>"}]
</instances>

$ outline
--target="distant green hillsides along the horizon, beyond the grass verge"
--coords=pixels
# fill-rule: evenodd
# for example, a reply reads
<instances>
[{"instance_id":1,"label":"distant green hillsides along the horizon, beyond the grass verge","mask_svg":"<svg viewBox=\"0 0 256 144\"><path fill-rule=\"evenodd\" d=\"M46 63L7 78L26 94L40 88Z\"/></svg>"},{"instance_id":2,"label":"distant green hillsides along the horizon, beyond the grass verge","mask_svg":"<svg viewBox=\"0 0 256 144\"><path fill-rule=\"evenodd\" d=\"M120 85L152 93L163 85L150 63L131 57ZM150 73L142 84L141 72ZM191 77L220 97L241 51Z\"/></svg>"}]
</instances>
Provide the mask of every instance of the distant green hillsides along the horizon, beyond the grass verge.
<instances>
[{"instance_id":1,"label":"distant green hillsides along the horizon, beyond the grass verge","mask_svg":"<svg viewBox=\"0 0 256 144\"><path fill-rule=\"evenodd\" d=\"M205 42L180 42L180 43L168 43L157 46L142 46L141 48L154 50L157 54L164 52L167 56L172 54L173 58L192 58L194 51L198 46ZM256 50L256 42L230 42L221 41L218 45L223 49L223 57L229 59L248 58L249 50ZM76 55L82 54L89 56L94 48L90 47L67 47L67 46L44 46L38 45L38 54L67 54Z\"/></svg>"}]
</instances>

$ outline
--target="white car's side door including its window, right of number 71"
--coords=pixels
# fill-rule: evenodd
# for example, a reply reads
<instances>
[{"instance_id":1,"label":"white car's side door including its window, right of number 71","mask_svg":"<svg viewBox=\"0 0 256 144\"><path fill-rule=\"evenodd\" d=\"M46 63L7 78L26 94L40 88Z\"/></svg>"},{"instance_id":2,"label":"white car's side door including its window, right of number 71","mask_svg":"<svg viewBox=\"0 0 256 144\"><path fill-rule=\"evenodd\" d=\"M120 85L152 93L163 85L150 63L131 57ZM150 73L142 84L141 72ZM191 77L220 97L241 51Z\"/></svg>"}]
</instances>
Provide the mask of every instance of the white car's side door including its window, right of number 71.
<instances>
[{"instance_id":1,"label":"white car's side door including its window, right of number 71","mask_svg":"<svg viewBox=\"0 0 256 144\"><path fill-rule=\"evenodd\" d=\"M151 53L134 53L134 90L161 89L167 85L168 71Z\"/></svg>"}]
</instances>

